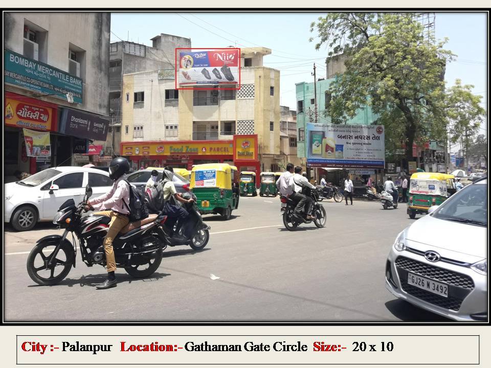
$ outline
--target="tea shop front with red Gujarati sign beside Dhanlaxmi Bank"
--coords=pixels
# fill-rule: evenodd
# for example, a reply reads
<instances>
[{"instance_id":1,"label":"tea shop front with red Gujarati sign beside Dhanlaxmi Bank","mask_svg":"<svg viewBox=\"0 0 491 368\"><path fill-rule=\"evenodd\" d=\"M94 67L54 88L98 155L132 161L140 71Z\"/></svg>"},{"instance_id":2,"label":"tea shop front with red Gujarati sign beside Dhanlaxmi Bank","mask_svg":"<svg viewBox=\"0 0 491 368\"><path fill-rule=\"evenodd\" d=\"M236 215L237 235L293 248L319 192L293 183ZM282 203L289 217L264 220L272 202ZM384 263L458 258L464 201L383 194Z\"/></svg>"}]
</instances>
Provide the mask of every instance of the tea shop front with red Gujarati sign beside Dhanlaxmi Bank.
<instances>
[{"instance_id":1,"label":"tea shop front with red Gujarati sign beside Dhanlaxmi Bank","mask_svg":"<svg viewBox=\"0 0 491 368\"><path fill-rule=\"evenodd\" d=\"M54 153L53 135L57 130L57 108L55 104L5 92L6 182L15 180L15 171L34 174L44 163L50 162ZM36 147L33 146L33 135L40 140Z\"/></svg>"}]
</instances>

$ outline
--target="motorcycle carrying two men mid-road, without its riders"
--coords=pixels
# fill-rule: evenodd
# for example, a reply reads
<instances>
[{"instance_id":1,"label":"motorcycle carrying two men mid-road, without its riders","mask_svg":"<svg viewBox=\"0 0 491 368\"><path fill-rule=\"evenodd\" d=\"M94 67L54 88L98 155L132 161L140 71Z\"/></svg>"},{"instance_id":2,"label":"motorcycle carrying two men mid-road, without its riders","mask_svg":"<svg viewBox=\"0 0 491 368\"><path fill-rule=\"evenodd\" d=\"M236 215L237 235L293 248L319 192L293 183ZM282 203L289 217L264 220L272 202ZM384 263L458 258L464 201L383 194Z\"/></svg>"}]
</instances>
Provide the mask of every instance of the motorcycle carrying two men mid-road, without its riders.
<instances>
[{"instance_id":1,"label":"motorcycle carrying two men mid-road, without its riders","mask_svg":"<svg viewBox=\"0 0 491 368\"><path fill-rule=\"evenodd\" d=\"M284 210L283 206L281 210L283 213L283 224L288 231L294 231L301 223L311 223L312 221L314 221L315 225L319 228L326 225L326 210L324 209L324 206L319 203L319 192L317 190L311 190L308 192L306 193L306 195L314 200L312 211L313 215L315 216L314 220L308 220L304 211L302 211L301 216L298 216L295 213L295 207L297 206L297 203L291 198L280 196L281 203L285 204Z\"/></svg>"}]
</instances>

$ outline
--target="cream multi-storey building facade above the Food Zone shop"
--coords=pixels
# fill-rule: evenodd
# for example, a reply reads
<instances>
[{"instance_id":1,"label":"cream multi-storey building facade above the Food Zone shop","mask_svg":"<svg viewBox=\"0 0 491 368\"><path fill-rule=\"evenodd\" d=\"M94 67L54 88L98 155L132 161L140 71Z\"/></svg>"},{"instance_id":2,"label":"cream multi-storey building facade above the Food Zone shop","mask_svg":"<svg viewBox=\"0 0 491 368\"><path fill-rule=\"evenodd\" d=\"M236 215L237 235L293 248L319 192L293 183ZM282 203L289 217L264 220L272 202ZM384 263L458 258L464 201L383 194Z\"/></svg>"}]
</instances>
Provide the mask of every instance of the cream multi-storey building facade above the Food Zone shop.
<instances>
[{"instance_id":1,"label":"cream multi-storey building facade above the Food Zone shop","mask_svg":"<svg viewBox=\"0 0 491 368\"><path fill-rule=\"evenodd\" d=\"M280 153L280 72L262 64L269 54L271 50L266 48L241 49L238 90L219 86L178 90L173 77L159 75L158 71L125 74L122 154L131 142L147 142L145 147L150 147L155 141L172 141L173 147L192 143L199 150L186 152L184 148L174 154L162 150L158 155L146 155L139 149L141 154L132 151L129 157L132 165L173 163L189 169L201 163L233 163L233 136L253 134L257 135L260 162L260 167L253 169L274 168L284 157ZM249 165L247 168L251 169Z\"/></svg>"}]
</instances>

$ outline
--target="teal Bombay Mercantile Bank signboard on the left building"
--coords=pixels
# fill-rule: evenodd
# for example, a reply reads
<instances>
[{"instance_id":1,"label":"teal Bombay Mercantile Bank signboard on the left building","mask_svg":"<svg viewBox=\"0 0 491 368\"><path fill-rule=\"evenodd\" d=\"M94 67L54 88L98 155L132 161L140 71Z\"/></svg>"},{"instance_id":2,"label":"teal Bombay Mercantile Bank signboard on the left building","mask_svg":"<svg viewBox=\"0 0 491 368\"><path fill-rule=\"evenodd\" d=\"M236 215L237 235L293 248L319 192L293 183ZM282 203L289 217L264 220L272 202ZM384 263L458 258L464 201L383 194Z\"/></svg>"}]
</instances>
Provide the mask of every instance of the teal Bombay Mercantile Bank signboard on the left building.
<instances>
[{"instance_id":1,"label":"teal Bombay Mercantile Bank signboard on the left building","mask_svg":"<svg viewBox=\"0 0 491 368\"><path fill-rule=\"evenodd\" d=\"M82 103L82 80L48 64L4 50L4 83Z\"/></svg>"}]
</instances>

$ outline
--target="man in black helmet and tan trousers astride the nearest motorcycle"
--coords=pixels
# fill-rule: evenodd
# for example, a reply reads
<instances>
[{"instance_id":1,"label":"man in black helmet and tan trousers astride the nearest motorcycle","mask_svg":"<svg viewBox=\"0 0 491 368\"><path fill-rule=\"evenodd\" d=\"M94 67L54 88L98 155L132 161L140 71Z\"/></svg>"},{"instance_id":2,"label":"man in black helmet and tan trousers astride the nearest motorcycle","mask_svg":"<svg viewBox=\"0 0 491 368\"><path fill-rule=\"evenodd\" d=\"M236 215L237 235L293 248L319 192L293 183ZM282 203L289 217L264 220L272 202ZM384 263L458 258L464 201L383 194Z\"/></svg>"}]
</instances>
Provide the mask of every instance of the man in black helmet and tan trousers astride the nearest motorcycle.
<instances>
[{"instance_id":1,"label":"man in black helmet and tan trousers astride the nearest motorcycle","mask_svg":"<svg viewBox=\"0 0 491 368\"><path fill-rule=\"evenodd\" d=\"M129 171L128 160L116 157L109 164L109 178L114 180L111 190L100 197L87 201L86 210L102 210L94 215L103 215L111 218L109 229L104 238L104 252L106 254L107 280L96 286L96 289L109 289L117 286L116 260L113 252L113 240L129 222L129 185L123 180L124 174Z\"/></svg>"}]
</instances>

